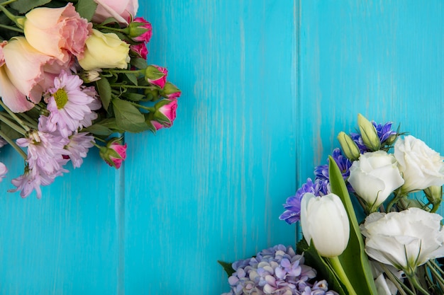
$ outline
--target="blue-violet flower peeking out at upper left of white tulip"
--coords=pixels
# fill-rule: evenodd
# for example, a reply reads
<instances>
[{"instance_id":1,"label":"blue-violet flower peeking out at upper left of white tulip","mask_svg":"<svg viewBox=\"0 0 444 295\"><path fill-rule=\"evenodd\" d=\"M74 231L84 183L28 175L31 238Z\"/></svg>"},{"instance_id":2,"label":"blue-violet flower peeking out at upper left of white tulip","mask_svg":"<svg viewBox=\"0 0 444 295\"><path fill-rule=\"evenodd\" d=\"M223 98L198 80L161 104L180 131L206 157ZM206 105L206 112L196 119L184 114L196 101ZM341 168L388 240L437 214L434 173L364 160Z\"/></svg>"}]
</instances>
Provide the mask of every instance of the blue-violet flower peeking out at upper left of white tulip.
<instances>
[{"instance_id":1,"label":"blue-violet flower peeking out at upper left of white tulip","mask_svg":"<svg viewBox=\"0 0 444 295\"><path fill-rule=\"evenodd\" d=\"M307 178L307 182L299 187L296 195L287 198L287 201L283 204L285 211L279 216L279 219L285 220L287 224L294 224L299 221L301 219L301 200L307 192L311 192L315 196L326 195L320 181L315 180L313 183L311 178Z\"/></svg>"}]
</instances>

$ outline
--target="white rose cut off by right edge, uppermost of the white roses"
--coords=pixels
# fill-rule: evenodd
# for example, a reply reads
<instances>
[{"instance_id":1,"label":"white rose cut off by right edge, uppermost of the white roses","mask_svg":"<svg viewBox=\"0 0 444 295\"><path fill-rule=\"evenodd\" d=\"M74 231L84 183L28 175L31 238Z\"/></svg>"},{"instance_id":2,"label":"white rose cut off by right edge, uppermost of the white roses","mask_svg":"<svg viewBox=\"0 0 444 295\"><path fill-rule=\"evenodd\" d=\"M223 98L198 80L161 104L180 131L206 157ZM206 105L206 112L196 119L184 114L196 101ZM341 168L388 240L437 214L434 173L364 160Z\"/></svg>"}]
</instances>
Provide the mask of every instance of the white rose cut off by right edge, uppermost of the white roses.
<instances>
[{"instance_id":1,"label":"white rose cut off by right edge, uppermost of the white roses","mask_svg":"<svg viewBox=\"0 0 444 295\"><path fill-rule=\"evenodd\" d=\"M444 184L444 158L420 139L411 135L398 139L394 156L404 177L403 192Z\"/></svg>"}]
</instances>

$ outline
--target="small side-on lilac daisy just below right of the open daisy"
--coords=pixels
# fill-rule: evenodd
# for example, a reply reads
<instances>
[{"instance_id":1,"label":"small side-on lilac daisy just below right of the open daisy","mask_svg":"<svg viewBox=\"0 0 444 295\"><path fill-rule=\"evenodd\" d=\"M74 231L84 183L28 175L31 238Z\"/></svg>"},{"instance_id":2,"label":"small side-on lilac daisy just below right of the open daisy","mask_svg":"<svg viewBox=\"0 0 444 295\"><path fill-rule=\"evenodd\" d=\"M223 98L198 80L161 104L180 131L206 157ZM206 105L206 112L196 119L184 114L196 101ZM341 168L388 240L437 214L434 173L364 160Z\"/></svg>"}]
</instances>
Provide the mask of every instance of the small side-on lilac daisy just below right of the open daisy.
<instances>
[{"instance_id":1,"label":"small side-on lilac daisy just below right of the open daisy","mask_svg":"<svg viewBox=\"0 0 444 295\"><path fill-rule=\"evenodd\" d=\"M74 168L82 166L83 158L88 154L89 148L94 146L94 137L87 133L74 133L70 137L70 142L65 146L69 151L69 158Z\"/></svg>"}]
</instances>

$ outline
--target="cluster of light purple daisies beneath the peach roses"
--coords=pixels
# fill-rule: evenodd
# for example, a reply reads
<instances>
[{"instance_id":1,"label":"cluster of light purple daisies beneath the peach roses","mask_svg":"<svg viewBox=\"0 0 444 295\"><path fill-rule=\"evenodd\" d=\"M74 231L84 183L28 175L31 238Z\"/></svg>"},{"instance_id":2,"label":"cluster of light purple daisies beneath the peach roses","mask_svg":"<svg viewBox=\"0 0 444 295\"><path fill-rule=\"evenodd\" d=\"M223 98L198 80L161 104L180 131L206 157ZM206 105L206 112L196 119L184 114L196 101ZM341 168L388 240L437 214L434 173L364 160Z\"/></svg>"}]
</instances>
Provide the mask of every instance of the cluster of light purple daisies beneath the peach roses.
<instances>
[{"instance_id":1,"label":"cluster of light purple daisies beneath the peach roses","mask_svg":"<svg viewBox=\"0 0 444 295\"><path fill-rule=\"evenodd\" d=\"M37 129L29 129L27 137L16 140L18 146L27 148L27 160L23 175L12 180L21 197L35 190L41 197L40 185L50 185L57 176L66 173L63 168L70 160L78 168L94 145L94 137L78 132L96 119L94 110L101 108L94 87L82 86L83 81L75 74L62 71L54 79L54 87L45 98L48 107L40 115Z\"/></svg>"}]
</instances>

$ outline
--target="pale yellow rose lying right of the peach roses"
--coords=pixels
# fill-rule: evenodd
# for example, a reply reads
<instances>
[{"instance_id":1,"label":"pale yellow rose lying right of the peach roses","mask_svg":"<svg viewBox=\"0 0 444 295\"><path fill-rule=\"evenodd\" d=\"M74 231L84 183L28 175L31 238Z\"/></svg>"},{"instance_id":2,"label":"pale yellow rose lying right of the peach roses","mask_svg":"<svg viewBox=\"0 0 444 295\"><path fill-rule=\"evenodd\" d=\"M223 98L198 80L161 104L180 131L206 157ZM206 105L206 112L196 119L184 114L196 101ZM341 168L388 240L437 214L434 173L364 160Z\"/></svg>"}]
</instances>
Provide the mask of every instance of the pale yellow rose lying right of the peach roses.
<instances>
[{"instance_id":1,"label":"pale yellow rose lying right of the peach roses","mask_svg":"<svg viewBox=\"0 0 444 295\"><path fill-rule=\"evenodd\" d=\"M130 62L130 45L123 42L114 33L101 33L92 30L92 35L87 39L84 57L79 59L83 69L126 69Z\"/></svg>"}]
</instances>

